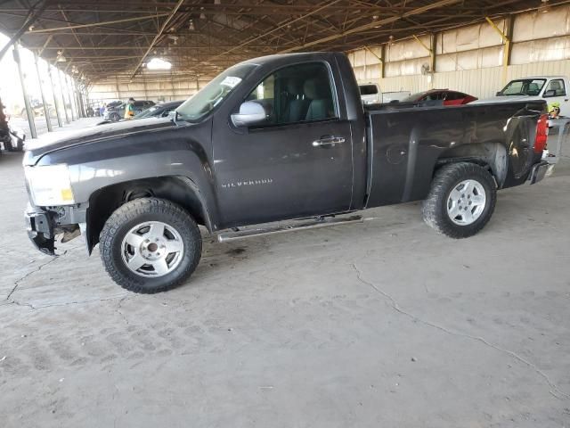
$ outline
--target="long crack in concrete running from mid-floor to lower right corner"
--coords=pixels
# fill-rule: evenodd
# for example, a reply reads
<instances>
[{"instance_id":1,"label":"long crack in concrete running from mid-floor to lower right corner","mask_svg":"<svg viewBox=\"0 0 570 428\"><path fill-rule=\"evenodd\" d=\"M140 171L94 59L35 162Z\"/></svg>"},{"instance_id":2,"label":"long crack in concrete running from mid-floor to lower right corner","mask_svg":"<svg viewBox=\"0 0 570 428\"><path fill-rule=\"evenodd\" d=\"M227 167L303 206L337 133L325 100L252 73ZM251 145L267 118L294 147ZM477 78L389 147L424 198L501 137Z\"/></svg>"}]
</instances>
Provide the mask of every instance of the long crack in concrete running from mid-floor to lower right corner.
<instances>
[{"instance_id":1,"label":"long crack in concrete running from mid-floor to lower right corner","mask_svg":"<svg viewBox=\"0 0 570 428\"><path fill-rule=\"evenodd\" d=\"M460 333L460 332L455 332L452 331L448 328L445 328L442 325L436 325L434 323L430 323L429 321L426 321L420 317L417 317L413 314L411 314L410 312L406 312L404 309L402 309L399 305L398 302L387 292L382 291L379 287L377 287L375 284L372 284L369 281L366 281L365 279L362 278L362 272L359 268L356 267L356 265L354 263L351 263L351 266L354 270L354 272L356 273L356 277L358 278L358 280L365 285L368 285L369 287L371 287L373 290L375 290L376 292L378 292L380 295L382 295L385 299L389 300L389 305L392 309L394 309L396 312L402 314L405 317L409 317L411 318L413 321L417 321L423 325L428 325L429 327L432 328L436 328L437 330L450 334L452 336L458 336L458 337L463 337L466 339L471 339L473 341L476 342L480 342L485 344L485 346L488 346L490 348L492 348L493 350L498 350L503 354L509 355L509 357L511 358L515 358L518 362L523 363L525 366L528 366L530 368L532 368L534 370L534 372L536 374L539 374L542 379L544 379L546 381L546 383L549 384L550 386L550 394L554 397L556 397L557 399L570 399L570 394L567 394L564 391L561 391L556 383L553 383L550 380L550 377L548 376L548 374L545 374L538 366L536 366L535 364L533 364L531 361L528 361L527 359L521 357L520 355L518 355L516 352L512 351L512 350L506 350L504 348L501 348L498 345L495 345L492 342L487 341L485 338L483 337L479 337L479 336L474 336L468 333Z\"/></svg>"}]
</instances>

